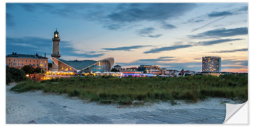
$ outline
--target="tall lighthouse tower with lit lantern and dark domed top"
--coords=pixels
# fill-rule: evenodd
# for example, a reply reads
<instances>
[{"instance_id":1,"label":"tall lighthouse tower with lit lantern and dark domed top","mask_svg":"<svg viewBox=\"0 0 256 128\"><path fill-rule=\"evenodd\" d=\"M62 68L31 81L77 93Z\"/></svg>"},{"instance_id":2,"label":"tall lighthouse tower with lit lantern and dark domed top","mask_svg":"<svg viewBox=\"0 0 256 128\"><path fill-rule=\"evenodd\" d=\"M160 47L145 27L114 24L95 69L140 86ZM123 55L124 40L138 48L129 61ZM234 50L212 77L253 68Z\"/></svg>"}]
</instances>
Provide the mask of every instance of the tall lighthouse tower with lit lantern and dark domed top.
<instances>
[{"instance_id":1,"label":"tall lighthouse tower with lit lantern and dark domed top","mask_svg":"<svg viewBox=\"0 0 256 128\"><path fill-rule=\"evenodd\" d=\"M55 58L60 58L60 56L61 56L59 54L59 41L60 41L60 38L59 38L59 32L57 31L57 29L54 32L52 41L53 41L53 49L52 49L51 56L55 57ZM56 65L56 63L54 63L54 61L52 62L52 71L58 71L58 64Z\"/></svg>"}]
</instances>

